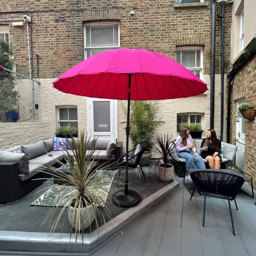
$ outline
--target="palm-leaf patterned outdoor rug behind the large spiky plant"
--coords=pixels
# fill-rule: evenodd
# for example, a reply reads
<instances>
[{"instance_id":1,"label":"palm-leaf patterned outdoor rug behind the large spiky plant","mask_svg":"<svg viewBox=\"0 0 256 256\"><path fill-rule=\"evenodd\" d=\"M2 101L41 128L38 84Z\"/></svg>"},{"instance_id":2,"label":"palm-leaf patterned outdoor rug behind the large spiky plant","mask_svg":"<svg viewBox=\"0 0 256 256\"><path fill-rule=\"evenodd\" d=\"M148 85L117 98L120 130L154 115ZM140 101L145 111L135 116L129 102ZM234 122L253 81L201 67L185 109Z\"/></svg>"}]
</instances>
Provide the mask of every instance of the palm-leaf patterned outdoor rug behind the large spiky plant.
<instances>
[{"instance_id":1,"label":"palm-leaf patterned outdoor rug behind the large spiky plant","mask_svg":"<svg viewBox=\"0 0 256 256\"><path fill-rule=\"evenodd\" d=\"M111 183L113 181L114 174L115 174L114 172L111 172L111 175L113 175ZM111 187L111 183L109 183L107 186L105 186L105 189L107 191L109 191L109 189ZM67 197L67 195L70 195L74 192L75 192L75 190L70 186L55 184L51 188L49 188L46 192L44 192L43 195L41 195L38 199L36 199L30 205L55 207L59 201L62 201L63 198ZM102 189L101 192L105 194L105 200L104 200L104 204L102 204L100 206L104 207L105 202L108 197L108 193L104 189Z\"/></svg>"}]
</instances>

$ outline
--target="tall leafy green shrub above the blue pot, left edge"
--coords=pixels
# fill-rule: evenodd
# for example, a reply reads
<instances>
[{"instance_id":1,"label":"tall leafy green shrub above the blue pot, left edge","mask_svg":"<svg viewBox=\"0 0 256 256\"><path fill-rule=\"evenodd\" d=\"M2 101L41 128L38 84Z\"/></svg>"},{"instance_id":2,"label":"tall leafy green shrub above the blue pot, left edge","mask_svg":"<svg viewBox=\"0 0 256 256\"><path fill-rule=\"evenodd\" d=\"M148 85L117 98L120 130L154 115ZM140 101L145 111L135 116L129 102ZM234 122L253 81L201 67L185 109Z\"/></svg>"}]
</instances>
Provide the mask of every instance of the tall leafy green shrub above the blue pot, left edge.
<instances>
[{"instance_id":1,"label":"tall leafy green shrub above the blue pot, left edge","mask_svg":"<svg viewBox=\"0 0 256 256\"><path fill-rule=\"evenodd\" d=\"M0 65L9 70L14 67L12 53L11 45L0 36ZM15 74L0 70L0 122L4 120L6 106L17 106L19 103L20 94L15 90L15 83Z\"/></svg>"}]
</instances>

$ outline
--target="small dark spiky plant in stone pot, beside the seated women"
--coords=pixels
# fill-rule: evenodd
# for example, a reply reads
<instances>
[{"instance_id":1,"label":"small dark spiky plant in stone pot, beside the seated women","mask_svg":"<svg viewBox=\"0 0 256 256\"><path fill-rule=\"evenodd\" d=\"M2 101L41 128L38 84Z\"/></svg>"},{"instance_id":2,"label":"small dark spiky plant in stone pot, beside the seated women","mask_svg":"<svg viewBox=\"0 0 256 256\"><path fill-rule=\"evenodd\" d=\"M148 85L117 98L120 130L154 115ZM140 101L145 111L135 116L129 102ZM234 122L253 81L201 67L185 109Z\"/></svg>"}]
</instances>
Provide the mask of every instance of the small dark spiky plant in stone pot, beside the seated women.
<instances>
[{"instance_id":1,"label":"small dark spiky plant in stone pot, beside the seated women","mask_svg":"<svg viewBox=\"0 0 256 256\"><path fill-rule=\"evenodd\" d=\"M157 136L154 141L157 146L154 146L153 151L159 156L157 163L154 167L155 171L158 169L158 176L160 180L171 181L173 177L173 166L170 164L172 154L170 152L172 145L172 136L169 135Z\"/></svg>"}]
</instances>

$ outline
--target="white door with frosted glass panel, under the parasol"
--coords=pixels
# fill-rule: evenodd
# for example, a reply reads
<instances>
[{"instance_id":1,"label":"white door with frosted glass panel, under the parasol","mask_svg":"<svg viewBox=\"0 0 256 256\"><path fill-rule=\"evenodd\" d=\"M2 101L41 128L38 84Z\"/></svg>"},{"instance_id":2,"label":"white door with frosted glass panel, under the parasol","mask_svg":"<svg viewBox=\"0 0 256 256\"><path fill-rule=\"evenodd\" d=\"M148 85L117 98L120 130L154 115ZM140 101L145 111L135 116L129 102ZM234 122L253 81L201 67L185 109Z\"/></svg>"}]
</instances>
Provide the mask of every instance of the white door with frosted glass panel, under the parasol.
<instances>
[{"instance_id":1,"label":"white door with frosted glass panel, under the parasol","mask_svg":"<svg viewBox=\"0 0 256 256\"><path fill-rule=\"evenodd\" d=\"M90 135L117 138L117 101L87 98L87 130Z\"/></svg>"}]
</instances>

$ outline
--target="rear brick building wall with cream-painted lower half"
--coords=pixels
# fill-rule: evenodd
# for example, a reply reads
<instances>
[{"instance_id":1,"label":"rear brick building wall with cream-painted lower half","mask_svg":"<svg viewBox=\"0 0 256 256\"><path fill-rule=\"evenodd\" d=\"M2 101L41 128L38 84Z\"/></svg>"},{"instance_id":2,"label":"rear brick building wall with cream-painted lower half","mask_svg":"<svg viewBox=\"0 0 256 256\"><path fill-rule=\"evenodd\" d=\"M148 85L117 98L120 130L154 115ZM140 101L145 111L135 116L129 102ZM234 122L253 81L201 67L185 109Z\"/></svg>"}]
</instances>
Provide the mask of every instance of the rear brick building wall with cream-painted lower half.
<instances>
[{"instance_id":1,"label":"rear brick building wall with cream-painted lower half","mask_svg":"<svg viewBox=\"0 0 256 256\"><path fill-rule=\"evenodd\" d=\"M210 90L211 63L211 0L201 3L175 3L175 0L160 1L17 1L0 0L0 25L9 26L10 41L15 49L17 72L29 76L28 40L31 55L31 73L41 79L36 87L37 119L48 122L49 129L42 139L52 137L58 126L60 106L77 107L78 128L88 129L87 99L64 95L52 88L52 81L66 70L86 58L85 26L111 22L118 25L119 45L122 48L139 48L162 53L176 58L176 51L200 51L200 77ZM218 7L217 7L218 9ZM131 14L134 11L134 14ZM31 23L23 21L23 15L32 18ZM230 70L231 5L225 7L225 73ZM14 20L17 19L17 20ZM18 20L20 19L20 20ZM21 21L22 26L13 22ZM1 27L0 26L0 27ZM1 29L0 29L1 30ZM189 47L189 48L188 48ZM216 70L215 70L215 130L220 135L220 93L221 93L221 20L216 18ZM37 68L38 55L38 68ZM196 71L195 71L196 72ZM20 100L21 119L30 120L31 88L26 79L20 79L17 88ZM125 141L125 115L121 101L117 105L116 134L118 140ZM187 99L159 101L159 114L163 126L157 133L177 134L177 115L201 116L202 129L209 128L210 91ZM21 120L20 120L21 121ZM18 125L22 126L22 122ZM5 127L3 125L3 127ZM224 122L225 129L225 122ZM0 148L27 143L5 141L3 129L0 131ZM2 134L1 134L2 133ZM225 134L225 132L224 132ZM203 134L204 136L204 134ZM36 138L38 139L38 138ZM32 140L29 137L29 140Z\"/></svg>"}]
</instances>

